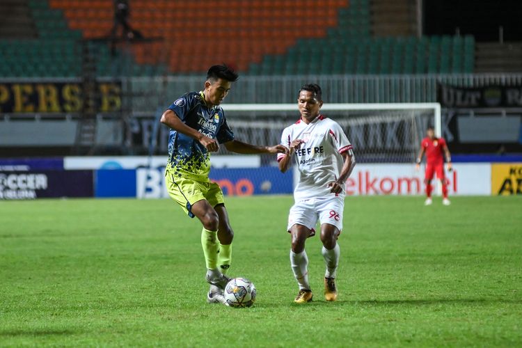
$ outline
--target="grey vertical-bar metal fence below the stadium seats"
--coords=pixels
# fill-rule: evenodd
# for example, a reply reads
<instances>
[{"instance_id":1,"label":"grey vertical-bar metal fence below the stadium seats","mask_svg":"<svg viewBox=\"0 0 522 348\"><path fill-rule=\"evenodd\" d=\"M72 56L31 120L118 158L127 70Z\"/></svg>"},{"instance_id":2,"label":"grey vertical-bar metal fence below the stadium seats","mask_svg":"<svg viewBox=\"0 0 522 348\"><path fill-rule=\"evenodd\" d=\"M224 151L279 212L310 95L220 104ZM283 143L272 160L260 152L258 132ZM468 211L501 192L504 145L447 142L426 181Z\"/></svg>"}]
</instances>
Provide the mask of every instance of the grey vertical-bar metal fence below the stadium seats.
<instances>
[{"instance_id":1,"label":"grey vertical-bar metal fence below the stadium seats","mask_svg":"<svg viewBox=\"0 0 522 348\"><path fill-rule=\"evenodd\" d=\"M133 111L153 111L168 106L180 95L203 88L201 76L134 77ZM436 102L437 83L456 86L522 84L519 74L425 74L425 75L309 75L243 76L235 83L227 104L291 103L306 83L319 84L325 102L334 103L420 103ZM125 84L124 84L125 86ZM166 100L158 101L164 95ZM153 97L150 97L153 96ZM163 103L157 105L156 103Z\"/></svg>"}]
</instances>

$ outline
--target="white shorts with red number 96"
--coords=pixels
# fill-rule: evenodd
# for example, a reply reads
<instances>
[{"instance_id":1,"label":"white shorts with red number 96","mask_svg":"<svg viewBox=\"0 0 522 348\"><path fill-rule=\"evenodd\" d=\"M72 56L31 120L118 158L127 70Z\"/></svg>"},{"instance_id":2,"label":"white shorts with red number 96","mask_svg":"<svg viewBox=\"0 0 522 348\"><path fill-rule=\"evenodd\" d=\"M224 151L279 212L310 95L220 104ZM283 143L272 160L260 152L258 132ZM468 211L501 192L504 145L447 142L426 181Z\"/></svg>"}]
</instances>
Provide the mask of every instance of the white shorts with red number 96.
<instances>
[{"instance_id":1,"label":"white shorts with red number 96","mask_svg":"<svg viewBox=\"0 0 522 348\"><path fill-rule=\"evenodd\" d=\"M296 223L306 226L312 230L312 235L315 235L315 225L317 220L321 224L329 223L339 231L342 230L342 212L345 209L345 198L329 197L329 198L311 198L296 202L290 208L288 215L288 227L290 228Z\"/></svg>"}]
</instances>

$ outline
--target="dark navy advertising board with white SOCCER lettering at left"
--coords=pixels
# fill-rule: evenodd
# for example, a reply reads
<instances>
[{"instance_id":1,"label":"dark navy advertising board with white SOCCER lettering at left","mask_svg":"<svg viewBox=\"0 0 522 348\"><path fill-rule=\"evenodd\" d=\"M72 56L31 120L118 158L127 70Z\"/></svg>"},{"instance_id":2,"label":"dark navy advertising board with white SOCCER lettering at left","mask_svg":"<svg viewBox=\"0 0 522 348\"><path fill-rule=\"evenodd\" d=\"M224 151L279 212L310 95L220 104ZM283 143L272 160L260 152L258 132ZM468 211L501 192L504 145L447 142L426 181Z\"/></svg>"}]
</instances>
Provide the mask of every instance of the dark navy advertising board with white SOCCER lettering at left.
<instances>
[{"instance_id":1,"label":"dark navy advertising board with white SOCCER lettering at left","mask_svg":"<svg viewBox=\"0 0 522 348\"><path fill-rule=\"evenodd\" d=\"M93 197L93 171L0 171L0 199Z\"/></svg>"}]
</instances>

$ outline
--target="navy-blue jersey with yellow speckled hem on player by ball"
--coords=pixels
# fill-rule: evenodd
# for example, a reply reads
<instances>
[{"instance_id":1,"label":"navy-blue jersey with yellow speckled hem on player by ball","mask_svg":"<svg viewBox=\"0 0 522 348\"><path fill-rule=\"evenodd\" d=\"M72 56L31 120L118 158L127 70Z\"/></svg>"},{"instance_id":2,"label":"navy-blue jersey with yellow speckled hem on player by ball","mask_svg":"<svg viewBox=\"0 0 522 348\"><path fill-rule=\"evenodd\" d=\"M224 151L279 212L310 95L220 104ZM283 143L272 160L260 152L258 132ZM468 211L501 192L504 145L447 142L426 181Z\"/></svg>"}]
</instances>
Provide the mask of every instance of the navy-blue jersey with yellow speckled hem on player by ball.
<instances>
[{"instance_id":1,"label":"navy-blue jersey with yellow speckled hem on player by ball","mask_svg":"<svg viewBox=\"0 0 522 348\"><path fill-rule=\"evenodd\" d=\"M226 143L234 139L228 127L225 113L220 106L209 108L203 92L191 92L168 106L185 125L198 132ZM171 129L168 136L168 170L176 177L187 177L199 182L208 182L210 173L210 154L196 139Z\"/></svg>"}]
</instances>

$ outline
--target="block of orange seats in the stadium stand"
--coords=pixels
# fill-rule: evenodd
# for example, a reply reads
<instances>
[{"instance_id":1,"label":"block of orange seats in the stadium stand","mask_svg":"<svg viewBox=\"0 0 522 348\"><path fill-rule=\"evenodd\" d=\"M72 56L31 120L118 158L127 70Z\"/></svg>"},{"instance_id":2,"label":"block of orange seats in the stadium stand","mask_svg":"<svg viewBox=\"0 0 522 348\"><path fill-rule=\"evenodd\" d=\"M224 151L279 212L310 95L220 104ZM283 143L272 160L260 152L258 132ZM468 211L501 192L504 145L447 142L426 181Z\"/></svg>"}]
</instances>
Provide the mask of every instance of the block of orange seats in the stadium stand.
<instances>
[{"instance_id":1,"label":"block of orange seats in the stadium stand","mask_svg":"<svg viewBox=\"0 0 522 348\"><path fill-rule=\"evenodd\" d=\"M130 1L130 22L145 37L162 36L172 72L206 70L216 61L232 61L246 70L266 54L284 54L296 39L319 38L337 24L346 0ZM104 0L49 0L64 11L71 29L84 38L106 35L113 25L113 3ZM302 18L313 18L313 24ZM133 50L136 61L151 61L146 49ZM180 52L183 52L180 54ZM153 57L152 57L153 58ZM152 62L153 63L153 62Z\"/></svg>"}]
</instances>

